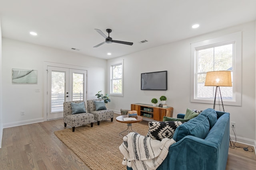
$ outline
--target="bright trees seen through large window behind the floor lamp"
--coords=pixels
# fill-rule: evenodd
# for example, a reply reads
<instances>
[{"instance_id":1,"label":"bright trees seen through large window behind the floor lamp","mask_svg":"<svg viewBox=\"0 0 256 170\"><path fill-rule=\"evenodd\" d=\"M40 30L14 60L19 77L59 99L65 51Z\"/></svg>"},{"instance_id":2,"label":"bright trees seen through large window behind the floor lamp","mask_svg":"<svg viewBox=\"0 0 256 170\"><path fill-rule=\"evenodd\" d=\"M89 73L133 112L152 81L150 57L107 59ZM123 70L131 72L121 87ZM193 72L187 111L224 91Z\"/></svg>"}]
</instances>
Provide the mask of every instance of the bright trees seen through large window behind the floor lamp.
<instances>
[{"instance_id":1,"label":"bright trees seen through large window behind the floor lamp","mask_svg":"<svg viewBox=\"0 0 256 170\"><path fill-rule=\"evenodd\" d=\"M234 43L223 43L209 48L196 49L197 57L197 98L214 98L215 86L204 86L206 72L230 70L233 68L233 46ZM233 87L220 87L223 99L233 98Z\"/></svg>"}]
</instances>

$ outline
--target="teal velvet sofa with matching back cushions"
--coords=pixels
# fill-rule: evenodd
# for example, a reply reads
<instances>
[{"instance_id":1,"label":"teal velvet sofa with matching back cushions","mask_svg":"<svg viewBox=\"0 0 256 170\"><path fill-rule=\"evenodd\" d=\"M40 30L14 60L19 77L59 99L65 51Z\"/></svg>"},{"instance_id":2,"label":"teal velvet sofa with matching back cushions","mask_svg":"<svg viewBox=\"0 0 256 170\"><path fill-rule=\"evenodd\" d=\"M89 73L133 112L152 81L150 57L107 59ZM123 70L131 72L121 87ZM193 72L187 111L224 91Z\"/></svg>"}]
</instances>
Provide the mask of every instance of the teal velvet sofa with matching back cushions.
<instances>
[{"instance_id":1,"label":"teal velvet sofa with matching back cushions","mask_svg":"<svg viewBox=\"0 0 256 170\"><path fill-rule=\"evenodd\" d=\"M178 115L179 118L183 116ZM157 170L225 170L229 133L230 113L204 110L177 127L173 135L176 143L169 147Z\"/></svg>"}]
</instances>

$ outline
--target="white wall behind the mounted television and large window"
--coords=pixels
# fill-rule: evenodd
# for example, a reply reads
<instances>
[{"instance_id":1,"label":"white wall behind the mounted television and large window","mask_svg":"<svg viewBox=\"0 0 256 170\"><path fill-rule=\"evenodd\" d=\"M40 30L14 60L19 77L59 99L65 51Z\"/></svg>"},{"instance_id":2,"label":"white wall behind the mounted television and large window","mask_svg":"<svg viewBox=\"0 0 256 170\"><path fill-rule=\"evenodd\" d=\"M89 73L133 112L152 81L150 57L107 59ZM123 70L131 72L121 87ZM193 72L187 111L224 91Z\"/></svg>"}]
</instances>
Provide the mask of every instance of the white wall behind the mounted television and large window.
<instances>
[{"instance_id":1,"label":"white wall behind the mounted television and large window","mask_svg":"<svg viewBox=\"0 0 256 170\"><path fill-rule=\"evenodd\" d=\"M212 108L213 104L190 102L190 43L237 31L242 31L243 41L242 106L224 107L230 112L230 121L236 122L237 140L255 145L255 21L108 60L109 63L124 59L124 97L110 96L108 107L120 112L120 108L130 109L132 103L151 104L152 98L164 95L168 106L174 108L173 117L185 113L186 108ZM167 91L140 90L141 73L162 70L168 70ZM109 84L108 76L108 89ZM230 135L234 135L232 130Z\"/></svg>"}]
</instances>

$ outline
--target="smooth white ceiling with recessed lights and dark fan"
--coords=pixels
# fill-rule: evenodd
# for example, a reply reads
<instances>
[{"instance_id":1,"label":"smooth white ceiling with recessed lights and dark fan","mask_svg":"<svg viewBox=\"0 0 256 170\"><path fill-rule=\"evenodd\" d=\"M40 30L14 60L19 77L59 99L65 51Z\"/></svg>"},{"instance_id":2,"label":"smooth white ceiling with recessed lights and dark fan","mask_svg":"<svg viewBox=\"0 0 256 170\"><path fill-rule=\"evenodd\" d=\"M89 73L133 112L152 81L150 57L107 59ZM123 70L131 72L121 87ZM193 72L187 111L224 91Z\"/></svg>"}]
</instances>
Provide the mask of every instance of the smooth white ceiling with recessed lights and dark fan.
<instances>
[{"instance_id":1,"label":"smooth white ceiling with recessed lights and dark fan","mask_svg":"<svg viewBox=\"0 0 256 170\"><path fill-rule=\"evenodd\" d=\"M0 0L0 20L2 37L110 59L256 20L256 0ZM134 44L93 48L95 28Z\"/></svg>"}]
</instances>

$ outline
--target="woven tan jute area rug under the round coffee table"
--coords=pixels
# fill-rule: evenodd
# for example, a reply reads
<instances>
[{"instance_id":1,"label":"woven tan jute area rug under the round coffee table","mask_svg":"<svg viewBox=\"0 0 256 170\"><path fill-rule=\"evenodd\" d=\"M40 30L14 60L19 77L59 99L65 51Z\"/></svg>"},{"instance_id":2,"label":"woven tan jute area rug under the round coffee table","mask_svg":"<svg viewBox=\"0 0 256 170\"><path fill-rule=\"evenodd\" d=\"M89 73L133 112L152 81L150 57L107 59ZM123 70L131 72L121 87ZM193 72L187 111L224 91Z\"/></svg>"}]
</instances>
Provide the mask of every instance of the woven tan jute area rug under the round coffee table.
<instances>
[{"instance_id":1,"label":"woven tan jute area rug under the round coffee table","mask_svg":"<svg viewBox=\"0 0 256 170\"><path fill-rule=\"evenodd\" d=\"M116 116L115 116L116 117ZM55 135L70 148L91 170L126 170L122 165L123 155L119 146L123 138L119 136L121 131L127 128L126 123L109 120L100 121L100 125L94 123L55 131ZM141 135L148 133L148 126L133 123L132 129Z\"/></svg>"}]
</instances>

